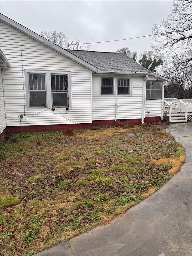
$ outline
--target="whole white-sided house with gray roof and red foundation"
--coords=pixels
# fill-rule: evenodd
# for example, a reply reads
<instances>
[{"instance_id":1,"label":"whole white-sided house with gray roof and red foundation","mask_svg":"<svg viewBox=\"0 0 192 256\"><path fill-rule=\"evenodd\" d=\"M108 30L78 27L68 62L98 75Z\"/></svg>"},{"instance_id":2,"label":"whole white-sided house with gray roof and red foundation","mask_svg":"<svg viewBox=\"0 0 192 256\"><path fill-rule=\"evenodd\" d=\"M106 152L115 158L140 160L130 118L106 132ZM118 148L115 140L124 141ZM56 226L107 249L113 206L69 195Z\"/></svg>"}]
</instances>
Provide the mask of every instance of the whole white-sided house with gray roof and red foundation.
<instances>
[{"instance_id":1,"label":"whole white-sided house with gray roof and red foundation","mask_svg":"<svg viewBox=\"0 0 192 256\"><path fill-rule=\"evenodd\" d=\"M0 15L0 134L144 123L164 84L121 53L64 50Z\"/></svg>"}]
</instances>

